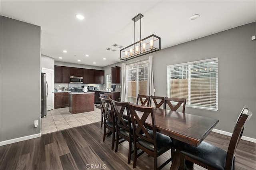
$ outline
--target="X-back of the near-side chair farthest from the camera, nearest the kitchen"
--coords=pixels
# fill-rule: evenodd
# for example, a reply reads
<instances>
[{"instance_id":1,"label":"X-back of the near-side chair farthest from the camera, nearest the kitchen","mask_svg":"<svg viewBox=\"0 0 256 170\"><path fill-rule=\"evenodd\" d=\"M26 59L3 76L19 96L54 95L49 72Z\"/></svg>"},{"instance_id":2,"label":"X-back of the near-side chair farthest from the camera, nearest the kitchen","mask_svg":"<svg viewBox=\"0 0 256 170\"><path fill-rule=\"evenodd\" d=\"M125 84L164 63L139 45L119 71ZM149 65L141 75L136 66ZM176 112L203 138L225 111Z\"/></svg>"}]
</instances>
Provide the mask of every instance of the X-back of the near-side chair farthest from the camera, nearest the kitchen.
<instances>
[{"instance_id":1,"label":"X-back of the near-side chair farthest from the camera, nearest the kitchen","mask_svg":"<svg viewBox=\"0 0 256 170\"><path fill-rule=\"evenodd\" d=\"M111 100L112 99L105 99L100 97L100 104L104 115L104 123L106 123L106 121L109 121L113 123L113 125L115 125L116 119L114 117L114 111Z\"/></svg>"}]
</instances>

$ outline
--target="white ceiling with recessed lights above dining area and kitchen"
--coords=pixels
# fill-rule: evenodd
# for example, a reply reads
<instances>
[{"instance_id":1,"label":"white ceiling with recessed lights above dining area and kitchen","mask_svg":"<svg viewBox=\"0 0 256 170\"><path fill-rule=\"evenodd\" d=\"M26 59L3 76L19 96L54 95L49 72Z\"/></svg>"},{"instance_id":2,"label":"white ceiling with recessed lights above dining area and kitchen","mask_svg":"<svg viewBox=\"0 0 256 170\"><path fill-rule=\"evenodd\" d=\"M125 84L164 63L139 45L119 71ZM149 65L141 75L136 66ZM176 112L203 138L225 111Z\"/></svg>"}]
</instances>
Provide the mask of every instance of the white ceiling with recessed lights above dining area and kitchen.
<instances>
[{"instance_id":1,"label":"white ceiling with recessed lights above dining area and kitchen","mask_svg":"<svg viewBox=\"0 0 256 170\"><path fill-rule=\"evenodd\" d=\"M1 0L0 3L2 16L41 26L43 55L55 61L100 67L120 61L120 49L112 47L113 44L126 47L134 42L132 18L139 13L144 15L141 38L159 36L162 49L256 21L255 0ZM84 15L85 19L78 20L76 14ZM194 14L200 17L189 20ZM135 29L137 41L139 22Z\"/></svg>"}]
</instances>

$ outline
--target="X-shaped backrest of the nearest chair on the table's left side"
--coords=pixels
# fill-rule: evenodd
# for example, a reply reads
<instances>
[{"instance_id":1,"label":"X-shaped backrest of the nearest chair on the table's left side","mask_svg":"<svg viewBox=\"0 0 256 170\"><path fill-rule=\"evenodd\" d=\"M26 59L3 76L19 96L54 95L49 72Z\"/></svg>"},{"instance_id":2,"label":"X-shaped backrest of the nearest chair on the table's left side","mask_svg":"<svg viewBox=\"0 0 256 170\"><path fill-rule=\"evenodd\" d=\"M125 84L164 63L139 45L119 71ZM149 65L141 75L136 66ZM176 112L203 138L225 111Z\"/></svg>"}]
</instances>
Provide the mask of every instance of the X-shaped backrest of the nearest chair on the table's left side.
<instances>
[{"instance_id":1,"label":"X-shaped backrest of the nearest chair on the table's left side","mask_svg":"<svg viewBox=\"0 0 256 170\"><path fill-rule=\"evenodd\" d=\"M153 107L146 107L146 106L138 106L129 103L130 105L130 114L132 119L132 125L134 129L134 142L137 141L137 138L140 137L143 140L146 140L150 143L154 144L154 148L156 148L156 123L155 123L155 116L154 116L154 109ZM138 112L142 112L142 116L138 115ZM146 129L145 122L148 117L151 117L152 121L152 130L153 136L151 136ZM137 124L137 125L136 125ZM144 135L143 135L143 133Z\"/></svg>"}]
</instances>

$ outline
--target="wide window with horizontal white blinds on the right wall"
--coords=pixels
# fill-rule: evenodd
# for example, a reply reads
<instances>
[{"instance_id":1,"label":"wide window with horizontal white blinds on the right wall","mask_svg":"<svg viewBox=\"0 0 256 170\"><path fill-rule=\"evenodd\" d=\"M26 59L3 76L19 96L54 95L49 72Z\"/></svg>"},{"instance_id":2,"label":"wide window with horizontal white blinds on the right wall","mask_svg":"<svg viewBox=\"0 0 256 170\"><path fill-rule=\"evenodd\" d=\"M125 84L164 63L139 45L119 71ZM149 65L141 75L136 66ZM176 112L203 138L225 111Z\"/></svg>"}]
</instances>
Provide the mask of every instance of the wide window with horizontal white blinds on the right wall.
<instances>
[{"instance_id":1,"label":"wide window with horizontal white blinds on the right wall","mask_svg":"<svg viewBox=\"0 0 256 170\"><path fill-rule=\"evenodd\" d=\"M218 58L167 66L167 96L186 106L218 110Z\"/></svg>"}]
</instances>

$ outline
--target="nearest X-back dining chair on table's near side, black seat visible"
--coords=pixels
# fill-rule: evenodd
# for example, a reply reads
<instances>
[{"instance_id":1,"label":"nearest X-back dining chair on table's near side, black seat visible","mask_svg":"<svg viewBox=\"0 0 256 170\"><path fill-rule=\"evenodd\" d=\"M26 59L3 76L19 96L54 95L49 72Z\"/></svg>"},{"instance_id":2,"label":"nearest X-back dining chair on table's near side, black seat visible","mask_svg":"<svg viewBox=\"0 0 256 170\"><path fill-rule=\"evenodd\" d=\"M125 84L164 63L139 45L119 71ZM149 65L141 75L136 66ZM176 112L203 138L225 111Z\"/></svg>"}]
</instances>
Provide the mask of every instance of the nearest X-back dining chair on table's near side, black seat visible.
<instances>
[{"instance_id":1,"label":"nearest X-back dining chair on table's near side, black seat visible","mask_svg":"<svg viewBox=\"0 0 256 170\"><path fill-rule=\"evenodd\" d=\"M171 154L170 158L159 167L157 167L157 158L168 150L174 149L172 140L169 136L156 132L156 122L153 107L138 106L131 103L129 103L129 106L134 132L133 168L136 168L137 158L144 152L146 152L149 156L154 157L154 170L163 168L172 160L173 155ZM137 112L142 112L142 117L139 117ZM152 130L146 129L146 119L150 119L152 121ZM143 131L143 133L141 133L141 131ZM141 149L142 152L137 154L139 149Z\"/></svg>"}]
</instances>

